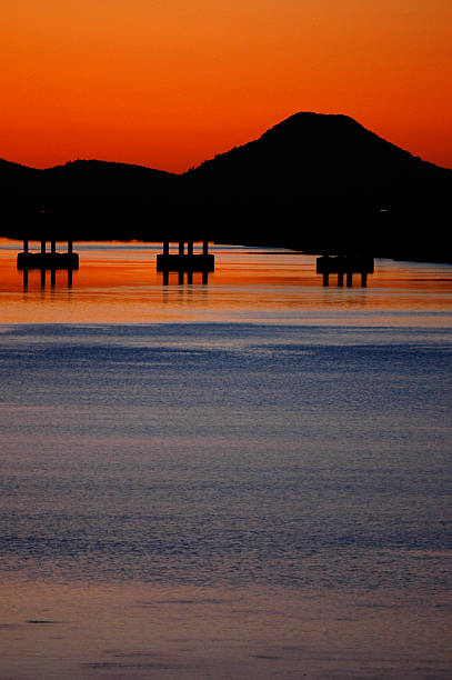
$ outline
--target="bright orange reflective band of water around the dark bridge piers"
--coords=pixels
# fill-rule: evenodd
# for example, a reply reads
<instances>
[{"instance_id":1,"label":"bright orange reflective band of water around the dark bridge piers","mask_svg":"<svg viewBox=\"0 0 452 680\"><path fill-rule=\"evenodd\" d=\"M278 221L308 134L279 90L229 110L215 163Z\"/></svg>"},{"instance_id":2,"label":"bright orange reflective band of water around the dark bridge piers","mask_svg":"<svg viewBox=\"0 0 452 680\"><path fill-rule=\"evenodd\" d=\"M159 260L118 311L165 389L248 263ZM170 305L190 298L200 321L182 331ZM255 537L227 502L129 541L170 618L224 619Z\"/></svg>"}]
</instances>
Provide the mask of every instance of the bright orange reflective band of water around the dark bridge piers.
<instances>
[{"instance_id":1,"label":"bright orange reflective band of water around the dark bridge piers","mask_svg":"<svg viewBox=\"0 0 452 680\"><path fill-rule=\"evenodd\" d=\"M36 246L34 246L36 247ZM329 286L315 257L213 246L203 277L157 271L159 243L78 243L80 267L19 271L20 242L0 240L2 323L253 321L452 326L452 266L376 260L365 288ZM415 317L415 318L414 318Z\"/></svg>"}]
</instances>

